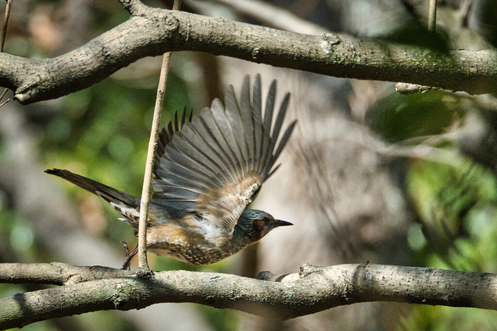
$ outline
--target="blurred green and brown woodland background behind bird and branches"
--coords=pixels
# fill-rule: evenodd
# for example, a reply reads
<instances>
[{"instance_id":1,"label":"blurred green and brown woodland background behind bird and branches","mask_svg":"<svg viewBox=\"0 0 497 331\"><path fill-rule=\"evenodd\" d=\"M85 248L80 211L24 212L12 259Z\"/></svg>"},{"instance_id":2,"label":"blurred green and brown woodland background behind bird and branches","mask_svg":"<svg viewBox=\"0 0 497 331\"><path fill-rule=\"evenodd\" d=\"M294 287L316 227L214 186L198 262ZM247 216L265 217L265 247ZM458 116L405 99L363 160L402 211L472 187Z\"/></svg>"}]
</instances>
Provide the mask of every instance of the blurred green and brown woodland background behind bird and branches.
<instances>
[{"instance_id":1,"label":"blurred green and brown woodland background behind bird and branches","mask_svg":"<svg viewBox=\"0 0 497 331\"><path fill-rule=\"evenodd\" d=\"M172 1L145 1L170 7ZM182 9L296 32L390 40L446 52L497 40L494 0L183 0ZM3 5L2 5L3 6ZM0 7L0 11L4 7ZM293 16L292 16L293 15ZM44 59L125 21L117 1L15 0L4 51ZM300 17L307 22L299 21ZM0 108L0 262L119 267L131 229L97 197L43 173L69 169L140 196L161 58L145 58L71 95ZM282 167L253 207L293 222L220 263L193 266L149 255L155 270L255 276L304 263L369 263L497 272L497 116L493 95L432 90L402 95L395 83L325 77L203 53L172 55L163 124L198 112L245 74L292 93L298 128ZM11 97L11 94L7 94ZM134 262L136 263L136 262ZM136 264L132 266L136 268ZM44 288L0 284L0 296ZM278 322L193 304L95 312L24 330L495 330L497 313L470 308L364 303Z\"/></svg>"}]
</instances>

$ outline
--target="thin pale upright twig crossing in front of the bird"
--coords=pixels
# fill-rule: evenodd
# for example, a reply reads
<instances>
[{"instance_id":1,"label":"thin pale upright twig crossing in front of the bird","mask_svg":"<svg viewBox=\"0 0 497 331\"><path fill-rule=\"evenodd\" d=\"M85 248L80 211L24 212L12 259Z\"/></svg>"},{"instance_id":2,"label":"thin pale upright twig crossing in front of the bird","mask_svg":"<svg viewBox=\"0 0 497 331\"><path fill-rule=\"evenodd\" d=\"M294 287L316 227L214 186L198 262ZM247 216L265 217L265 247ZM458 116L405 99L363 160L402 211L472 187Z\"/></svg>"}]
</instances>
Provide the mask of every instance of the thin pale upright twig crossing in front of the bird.
<instances>
[{"instance_id":1,"label":"thin pale upright twig crossing in front of the bird","mask_svg":"<svg viewBox=\"0 0 497 331\"><path fill-rule=\"evenodd\" d=\"M181 0L174 0L172 10L178 10ZM153 272L147 262L147 221L150 202L150 187L152 182L152 173L154 171L154 155L157 147L159 136L159 126L161 124L162 108L164 104L164 93L166 91L167 72L169 71L169 59L171 53L164 54L161 67L161 77L159 78L159 87L157 89L157 99L154 109L154 120L152 121L152 130L150 133L149 149L147 153L147 163L145 168L145 177L143 180L142 199L140 202L140 223L138 224L138 275L147 276Z\"/></svg>"}]
</instances>

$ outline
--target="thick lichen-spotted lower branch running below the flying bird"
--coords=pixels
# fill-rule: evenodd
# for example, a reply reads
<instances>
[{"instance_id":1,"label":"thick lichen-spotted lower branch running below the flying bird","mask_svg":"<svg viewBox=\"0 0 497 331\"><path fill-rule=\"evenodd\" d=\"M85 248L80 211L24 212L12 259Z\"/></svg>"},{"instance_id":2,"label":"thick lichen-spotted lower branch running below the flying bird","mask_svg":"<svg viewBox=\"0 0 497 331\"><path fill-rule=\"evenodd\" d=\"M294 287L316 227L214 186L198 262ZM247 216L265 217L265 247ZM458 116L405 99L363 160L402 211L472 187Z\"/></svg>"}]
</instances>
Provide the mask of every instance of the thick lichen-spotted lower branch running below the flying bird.
<instances>
[{"instance_id":1,"label":"thick lichen-spotted lower branch running below the flying bird","mask_svg":"<svg viewBox=\"0 0 497 331\"><path fill-rule=\"evenodd\" d=\"M65 283L65 276L54 274L59 272L57 267L74 268L53 266L25 265L25 271L40 274L43 269L51 273L47 275L49 279ZM76 268L89 271L94 267ZM492 273L392 265L306 264L296 274L274 275L266 271L258 277L162 271L150 279L119 276L16 294L0 300L0 329L96 310L140 309L161 302L193 302L275 319L370 301L497 310L497 274ZM6 277L1 279L5 281ZM27 276L19 279L29 281ZM32 281L39 282L34 277Z\"/></svg>"}]
</instances>

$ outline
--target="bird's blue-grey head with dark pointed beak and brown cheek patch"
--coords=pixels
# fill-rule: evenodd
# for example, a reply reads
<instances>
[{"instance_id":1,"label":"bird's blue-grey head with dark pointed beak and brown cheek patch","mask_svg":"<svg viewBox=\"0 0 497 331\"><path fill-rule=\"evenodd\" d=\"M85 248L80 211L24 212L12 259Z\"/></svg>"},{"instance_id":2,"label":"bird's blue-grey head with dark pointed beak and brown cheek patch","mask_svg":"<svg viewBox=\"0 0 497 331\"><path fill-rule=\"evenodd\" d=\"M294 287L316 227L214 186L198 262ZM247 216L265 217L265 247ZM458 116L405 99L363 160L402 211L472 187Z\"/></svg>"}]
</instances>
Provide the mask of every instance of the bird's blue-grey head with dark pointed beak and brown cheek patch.
<instances>
[{"instance_id":1,"label":"bird's blue-grey head with dark pointed beak and brown cheek patch","mask_svg":"<svg viewBox=\"0 0 497 331\"><path fill-rule=\"evenodd\" d=\"M287 225L293 224L274 219L273 216L262 210L247 209L240 215L237 225L235 225L233 238L251 244L264 237L272 229Z\"/></svg>"}]
</instances>

